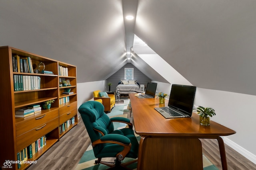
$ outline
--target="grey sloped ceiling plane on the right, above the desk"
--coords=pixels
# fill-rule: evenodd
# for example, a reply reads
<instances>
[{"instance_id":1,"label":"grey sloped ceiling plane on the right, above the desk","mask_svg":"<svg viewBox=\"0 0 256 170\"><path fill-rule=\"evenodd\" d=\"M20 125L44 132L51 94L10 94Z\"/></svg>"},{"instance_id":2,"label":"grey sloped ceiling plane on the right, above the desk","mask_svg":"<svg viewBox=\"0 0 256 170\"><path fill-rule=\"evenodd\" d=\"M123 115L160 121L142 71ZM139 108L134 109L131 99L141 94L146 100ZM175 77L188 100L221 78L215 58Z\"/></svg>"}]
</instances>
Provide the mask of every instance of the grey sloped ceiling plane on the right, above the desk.
<instances>
[{"instance_id":1,"label":"grey sloped ceiling plane on the right, above the desk","mask_svg":"<svg viewBox=\"0 0 256 170\"><path fill-rule=\"evenodd\" d=\"M135 34L200 88L256 95L256 1L139 0Z\"/></svg>"}]
</instances>

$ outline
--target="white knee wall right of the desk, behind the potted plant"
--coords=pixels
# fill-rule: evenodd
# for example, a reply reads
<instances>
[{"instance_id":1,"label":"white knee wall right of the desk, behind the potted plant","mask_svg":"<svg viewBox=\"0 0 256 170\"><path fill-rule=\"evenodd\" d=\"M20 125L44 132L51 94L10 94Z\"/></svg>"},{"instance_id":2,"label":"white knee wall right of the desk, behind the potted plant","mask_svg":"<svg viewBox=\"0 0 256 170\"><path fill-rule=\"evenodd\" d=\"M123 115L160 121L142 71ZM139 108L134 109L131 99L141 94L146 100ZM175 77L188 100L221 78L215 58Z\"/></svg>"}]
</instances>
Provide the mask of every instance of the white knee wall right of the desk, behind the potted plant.
<instances>
[{"instance_id":1,"label":"white knee wall right of the desk, behind the potted plant","mask_svg":"<svg viewBox=\"0 0 256 170\"><path fill-rule=\"evenodd\" d=\"M197 88L195 105L215 109L212 120L236 131L226 144L256 164L256 96Z\"/></svg>"}]
</instances>

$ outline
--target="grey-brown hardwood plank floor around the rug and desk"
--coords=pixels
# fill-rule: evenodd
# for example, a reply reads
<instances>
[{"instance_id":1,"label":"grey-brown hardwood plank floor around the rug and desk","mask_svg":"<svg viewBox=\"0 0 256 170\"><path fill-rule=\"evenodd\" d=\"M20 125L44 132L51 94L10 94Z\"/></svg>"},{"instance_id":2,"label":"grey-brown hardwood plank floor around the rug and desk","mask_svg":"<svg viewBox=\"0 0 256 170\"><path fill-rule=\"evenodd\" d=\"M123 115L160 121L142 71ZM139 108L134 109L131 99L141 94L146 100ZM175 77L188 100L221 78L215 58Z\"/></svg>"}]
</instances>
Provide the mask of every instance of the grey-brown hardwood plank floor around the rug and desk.
<instances>
[{"instance_id":1,"label":"grey-brown hardwood plank floor around the rug and desk","mask_svg":"<svg viewBox=\"0 0 256 170\"><path fill-rule=\"evenodd\" d=\"M201 139L201 141L205 156L222 170L217 140ZM73 170L89 145L88 133L82 119L79 119L78 125L64 135L28 170ZM228 170L256 170L256 165L244 156L227 145L225 145L225 149Z\"/></svg>"}]
</instances>

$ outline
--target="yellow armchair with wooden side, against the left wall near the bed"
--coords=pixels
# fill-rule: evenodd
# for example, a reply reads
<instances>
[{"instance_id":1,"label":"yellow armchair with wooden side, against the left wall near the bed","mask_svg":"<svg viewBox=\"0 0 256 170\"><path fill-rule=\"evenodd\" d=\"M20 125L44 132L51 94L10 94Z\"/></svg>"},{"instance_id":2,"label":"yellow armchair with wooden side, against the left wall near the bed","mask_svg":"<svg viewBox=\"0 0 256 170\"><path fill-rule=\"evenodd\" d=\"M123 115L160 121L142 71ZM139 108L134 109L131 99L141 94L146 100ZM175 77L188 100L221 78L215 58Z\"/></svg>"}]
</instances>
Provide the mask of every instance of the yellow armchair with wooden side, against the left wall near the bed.
<instances>
[{"instance_id":1,"label":"yellow armchair with wooden side, against the left wall near the bed","mask_svg":"<svg viewBox=\"0 0 256 170\"><path fill-rule=\"evenodd\" d=\"M102 104L104 106L104 112L110 112L112 107L116 104L116 98L114 94L107 94L108 96L100 97L100 90L96 90L93 92L94 100L101 99Z\"/></svg>"}]
</instances>

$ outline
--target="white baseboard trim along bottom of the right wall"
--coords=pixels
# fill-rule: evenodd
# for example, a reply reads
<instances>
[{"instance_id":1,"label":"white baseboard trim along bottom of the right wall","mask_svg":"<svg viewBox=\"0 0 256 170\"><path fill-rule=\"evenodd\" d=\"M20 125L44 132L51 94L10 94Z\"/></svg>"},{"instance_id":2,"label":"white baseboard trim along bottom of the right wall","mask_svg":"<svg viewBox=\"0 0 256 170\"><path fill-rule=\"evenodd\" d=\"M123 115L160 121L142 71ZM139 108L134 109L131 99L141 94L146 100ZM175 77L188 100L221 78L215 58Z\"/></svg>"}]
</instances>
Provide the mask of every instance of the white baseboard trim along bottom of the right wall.
<instances>
[{"instance_id":1,"label":"white baseboard trim along bottom of the right wall","mask_svg":"<svg viewBox=\"0 0 256 170\"><path fill-rule=\"evenodd\" d=\"M230 139L228 139L227 137L222 137L223 141L226 145L228 145L229 147L231 147L232 149L236 150L238 153L242 154L244 157L246 157L248 160L250 160L251 162L253 162L254 164L256 164L256 155L252 154L251 152L249 152L248 150L240 147L239 145L237 145L236 143L234 143L233 141L231 141Z\"/></svg>"}]
</instances>

